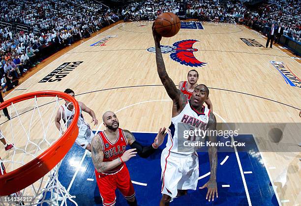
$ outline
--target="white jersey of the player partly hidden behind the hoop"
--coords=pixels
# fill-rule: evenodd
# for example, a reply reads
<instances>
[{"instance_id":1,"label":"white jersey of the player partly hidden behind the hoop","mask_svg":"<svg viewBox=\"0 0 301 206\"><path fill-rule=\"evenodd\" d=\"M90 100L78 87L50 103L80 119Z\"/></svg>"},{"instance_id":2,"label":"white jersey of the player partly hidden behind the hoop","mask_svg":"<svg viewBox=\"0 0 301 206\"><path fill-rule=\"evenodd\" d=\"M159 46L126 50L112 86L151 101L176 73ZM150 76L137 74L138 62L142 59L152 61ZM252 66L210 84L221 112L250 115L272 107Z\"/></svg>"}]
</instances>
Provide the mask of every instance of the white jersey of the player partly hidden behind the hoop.
<instances>
[{"instance_id":1,"label":"white jersey of the player partly hidden behind the hoop","mask_svg":"<svg viewBox=\"0 0 301 206\"><path fill-rule=\"evenodd\" d=\"M63 112L63 117L64 117L62 119L63 119L64 123L67 122L67 127L69 127L69 125L71 124L72 119L74 117L75 110L73 109L73 111L71 111L70 109L68 109L68 107L65 104L61 105L61 108L62 108L61 111ZM84 116L82 114L81 107L80 107L80 116L77 121L77 126L78 126L78 136L84 136L86 133L86 130L90 129L89 125L84 120Z\"/></svg>"}]
</instances>

